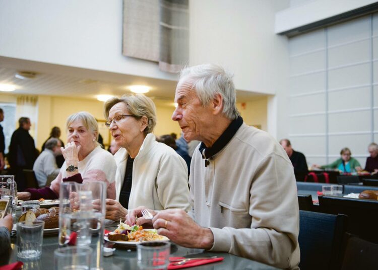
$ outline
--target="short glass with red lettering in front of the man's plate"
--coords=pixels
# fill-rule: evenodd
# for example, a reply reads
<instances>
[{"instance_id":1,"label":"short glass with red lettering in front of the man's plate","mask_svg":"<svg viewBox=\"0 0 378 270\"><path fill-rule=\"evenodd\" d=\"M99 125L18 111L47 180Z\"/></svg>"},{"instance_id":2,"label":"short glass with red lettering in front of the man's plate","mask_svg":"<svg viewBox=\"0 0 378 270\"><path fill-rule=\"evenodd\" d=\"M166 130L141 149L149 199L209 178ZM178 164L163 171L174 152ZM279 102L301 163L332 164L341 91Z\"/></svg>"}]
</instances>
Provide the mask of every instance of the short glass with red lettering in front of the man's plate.
<instances>
[{"instance_id":1,"label":"short glass with red lettering in front of the man's plate","mask_svg":"<svg viewBox=\"0 0 378 270\"><path fill-rule=\"evenodd\" d=\"M166 269L169 264L170 243L163 241L142 242L137 245L140 269Z\"/></svg>"}]
</instances>

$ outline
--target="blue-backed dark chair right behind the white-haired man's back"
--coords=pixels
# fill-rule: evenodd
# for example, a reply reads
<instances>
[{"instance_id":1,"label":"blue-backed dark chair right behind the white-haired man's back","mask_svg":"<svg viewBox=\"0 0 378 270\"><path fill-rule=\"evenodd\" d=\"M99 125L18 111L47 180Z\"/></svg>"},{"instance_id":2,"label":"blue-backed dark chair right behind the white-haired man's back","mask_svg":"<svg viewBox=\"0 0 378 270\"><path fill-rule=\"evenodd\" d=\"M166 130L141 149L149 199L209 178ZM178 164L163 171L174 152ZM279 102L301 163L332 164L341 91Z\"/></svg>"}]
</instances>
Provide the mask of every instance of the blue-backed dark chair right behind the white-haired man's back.
<instances>
[{"instance_id":1,"label":"blue-backed dark chair right behind the white-haired man's back","mask_svg":"<svg viewBox=\"0 0 378 270\"><path fill-rule=\"evenodd\" d=\"M299 211L300 269L337 269L347 217Z\"/></svg>"}]
</instances>

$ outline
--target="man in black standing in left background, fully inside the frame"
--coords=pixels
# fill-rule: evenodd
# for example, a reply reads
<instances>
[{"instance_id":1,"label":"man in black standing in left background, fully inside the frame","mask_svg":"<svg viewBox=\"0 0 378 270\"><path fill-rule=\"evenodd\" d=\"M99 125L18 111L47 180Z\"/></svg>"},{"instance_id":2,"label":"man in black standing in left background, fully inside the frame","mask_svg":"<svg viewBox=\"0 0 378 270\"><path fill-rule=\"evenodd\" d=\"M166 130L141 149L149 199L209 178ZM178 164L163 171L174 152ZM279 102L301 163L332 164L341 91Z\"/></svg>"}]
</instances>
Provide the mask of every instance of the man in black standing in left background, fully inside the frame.
<instances>
[{"instance_id":1,"label":"man in black standing in left background, fully inside the frame","mask_svg":"<svg viewBox=\"0 0 378 270\"><path fill-rule=\"evenodd\" d=\"M29 134L30 119L21 117L18 122L20 126L12 134L8 156L9 165L11 165L12 174L15 175L18 190L22 191L27 188L22 170L32 170L38 154L33 137Z\"/></svg>"}]
</instances>

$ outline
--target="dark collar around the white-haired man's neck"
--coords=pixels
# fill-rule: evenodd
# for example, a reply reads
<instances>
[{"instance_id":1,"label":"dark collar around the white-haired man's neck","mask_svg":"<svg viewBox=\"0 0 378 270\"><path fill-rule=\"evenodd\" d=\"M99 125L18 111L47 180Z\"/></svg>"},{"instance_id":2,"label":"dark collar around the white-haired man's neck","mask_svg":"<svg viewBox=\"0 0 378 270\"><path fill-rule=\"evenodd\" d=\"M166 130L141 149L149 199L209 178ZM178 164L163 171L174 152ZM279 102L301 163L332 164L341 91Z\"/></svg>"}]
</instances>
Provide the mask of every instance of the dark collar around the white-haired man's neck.
<instances>
[{"instance_id":1,"label":"dark collar around the white-haired man's neck","mask_svg":"<svg viewBox=\"0 0 378 270\"><path fill-rule=\"evenodd\" d=\"M207 148L204 143L201 143L199 150L202 158L209 159L221 151L228 144L228 142L231 141L232 137L234 137L236 131L239 129L242 123L243 118L241 118L241 116L238 116L236 119L232 120L230 125L226 128L226 130L224 130L212 147Z\"/></svg>"}]
</instances>

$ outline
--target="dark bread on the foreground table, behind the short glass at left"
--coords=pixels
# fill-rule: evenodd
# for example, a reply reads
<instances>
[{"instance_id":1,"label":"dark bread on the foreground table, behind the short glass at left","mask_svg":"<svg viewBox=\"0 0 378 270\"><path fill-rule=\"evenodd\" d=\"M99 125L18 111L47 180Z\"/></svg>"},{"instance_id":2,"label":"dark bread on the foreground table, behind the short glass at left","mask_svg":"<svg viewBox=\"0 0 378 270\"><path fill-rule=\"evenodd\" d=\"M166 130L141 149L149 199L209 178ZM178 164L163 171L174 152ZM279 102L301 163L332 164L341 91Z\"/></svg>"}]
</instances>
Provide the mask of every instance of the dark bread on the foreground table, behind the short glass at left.
<instances>
[{"instance_id":1,"label":"dark bread on the foreground table, behind the short glass at left","mask_svg":"<svg viewBox=\"0 0 378 270\"><path fill-rule=\"evenodd\" d=\"M59 228L59 208L52 207L50 209L32 209L22 214L18 221L33 222L35 220L44 221L45 229Z\"/></svg>"}]
</instances>

